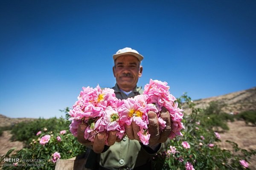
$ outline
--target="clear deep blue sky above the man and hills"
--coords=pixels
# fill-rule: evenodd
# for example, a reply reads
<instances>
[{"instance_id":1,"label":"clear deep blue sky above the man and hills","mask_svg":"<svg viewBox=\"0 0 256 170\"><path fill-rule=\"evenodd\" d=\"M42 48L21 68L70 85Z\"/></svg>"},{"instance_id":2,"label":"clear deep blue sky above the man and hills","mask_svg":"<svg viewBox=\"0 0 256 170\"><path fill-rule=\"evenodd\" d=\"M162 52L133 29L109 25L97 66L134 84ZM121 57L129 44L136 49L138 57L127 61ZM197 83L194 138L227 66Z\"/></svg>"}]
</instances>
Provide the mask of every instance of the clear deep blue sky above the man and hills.
<instances>
[{"instance_id":1,"label":"clear deep blue sky above the man and hills","mask_svg":"<svg viewBox=\"0 0 256 170\"><path fill-rule=\"evenodd\" d=\"M83 86L113 87L112 55L144 56L143 76L179 97L256 86L255 0L1 0L0 114L54 117Z\"/></svg>"}]
</instances>

